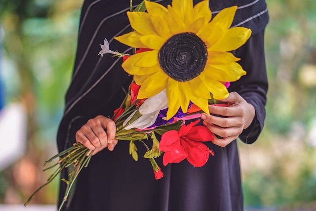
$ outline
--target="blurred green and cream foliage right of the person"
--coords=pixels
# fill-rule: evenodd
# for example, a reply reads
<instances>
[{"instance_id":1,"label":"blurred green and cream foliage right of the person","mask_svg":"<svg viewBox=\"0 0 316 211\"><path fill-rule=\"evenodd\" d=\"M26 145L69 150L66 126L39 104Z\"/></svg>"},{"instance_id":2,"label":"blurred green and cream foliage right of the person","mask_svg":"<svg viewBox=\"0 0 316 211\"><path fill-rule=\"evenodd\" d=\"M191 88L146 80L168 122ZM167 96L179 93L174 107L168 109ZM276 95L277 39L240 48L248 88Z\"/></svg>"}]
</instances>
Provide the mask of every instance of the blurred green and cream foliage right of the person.
<instances>
[{"instance_id":1,"label":"blurred green and cream foliage right of the person","mask_svg":"<svg viewBox=\"0 0 316 211\"><path fill-rule=\"evenodd\" d=\"M313 210L316 1L267 0L267 4L266 125L257 142L239 144L245 205Z\"/></svg>"}]
</instances>

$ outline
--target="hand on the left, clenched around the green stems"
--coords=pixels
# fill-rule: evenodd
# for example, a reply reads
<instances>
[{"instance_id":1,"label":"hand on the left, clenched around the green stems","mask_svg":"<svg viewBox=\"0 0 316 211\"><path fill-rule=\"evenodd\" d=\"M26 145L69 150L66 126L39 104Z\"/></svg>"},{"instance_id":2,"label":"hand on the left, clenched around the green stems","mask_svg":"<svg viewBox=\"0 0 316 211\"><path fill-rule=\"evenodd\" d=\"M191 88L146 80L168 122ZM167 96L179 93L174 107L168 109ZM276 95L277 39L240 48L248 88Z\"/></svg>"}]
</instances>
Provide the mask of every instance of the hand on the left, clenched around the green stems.
<instances>
[{"instance_id":1,"label":"hand on the left, clenched around the green stems","mask_svg":"<svg viewBox=\"0 0 316 211\"><path fill-rule=\"evenodd\" d=\"M97 116L90 119L77 131L76 140L86 148L94 150L92 155L95 155L106 147L110 151L114 150L118 143L118 140L115 139L115 133L116 126L113 120Z\"/></svg>"}]
</instances>

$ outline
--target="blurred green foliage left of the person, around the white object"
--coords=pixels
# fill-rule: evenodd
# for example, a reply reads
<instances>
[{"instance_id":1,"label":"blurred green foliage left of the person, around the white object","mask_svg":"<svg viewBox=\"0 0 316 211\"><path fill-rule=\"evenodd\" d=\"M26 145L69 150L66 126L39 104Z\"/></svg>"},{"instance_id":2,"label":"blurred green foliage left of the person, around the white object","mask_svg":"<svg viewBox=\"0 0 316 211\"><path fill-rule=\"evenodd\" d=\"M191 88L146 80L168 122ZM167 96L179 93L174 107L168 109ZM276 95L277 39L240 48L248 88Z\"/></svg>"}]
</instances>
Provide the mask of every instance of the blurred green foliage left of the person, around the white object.
<instances>
[{"instance_id":1,"label":"blurred green foliage left of the person, around the white object","mask_svg":"<svg viewBox=\"0 0 316 211\"><path fill-rule=\"evenodd\" d=\"M76 53L83 0L0 0L1 76L7 102L27 110L27 152L0 173L0 203L23 201L48 178L43 161L57 148L55 137ZM56 180L33 203L55 204Z\"/></svg>"}]
</instances>

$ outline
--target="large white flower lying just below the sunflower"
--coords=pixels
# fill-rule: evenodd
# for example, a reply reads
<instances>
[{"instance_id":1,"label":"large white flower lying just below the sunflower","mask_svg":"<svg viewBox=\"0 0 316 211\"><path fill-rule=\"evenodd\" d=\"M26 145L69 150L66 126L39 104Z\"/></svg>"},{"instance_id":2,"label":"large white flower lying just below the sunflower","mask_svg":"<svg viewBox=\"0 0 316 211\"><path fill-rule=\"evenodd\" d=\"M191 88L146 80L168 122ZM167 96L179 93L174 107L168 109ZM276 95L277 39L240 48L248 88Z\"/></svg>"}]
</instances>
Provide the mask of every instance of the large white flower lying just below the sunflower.
<instances>
[{"instance_id":1,"label":"large white flower lying just below the sunflower","mask_svg":"<svg viewBox=\"0 0 316 211\"><path fill-rule=\"evenodd\" d=\"M159 111L168 108L168 100L166 95L166 90L159 92L153 97L145 100L144 104L139 107L139 112L142 114L137 120L131 123L129 126L125 127L125 129L138 128L145 129L147 127L152 126L158 117ZM134 116L132 113L123 123L125 126L128 121Z\"/></svg>"}]
</instances>

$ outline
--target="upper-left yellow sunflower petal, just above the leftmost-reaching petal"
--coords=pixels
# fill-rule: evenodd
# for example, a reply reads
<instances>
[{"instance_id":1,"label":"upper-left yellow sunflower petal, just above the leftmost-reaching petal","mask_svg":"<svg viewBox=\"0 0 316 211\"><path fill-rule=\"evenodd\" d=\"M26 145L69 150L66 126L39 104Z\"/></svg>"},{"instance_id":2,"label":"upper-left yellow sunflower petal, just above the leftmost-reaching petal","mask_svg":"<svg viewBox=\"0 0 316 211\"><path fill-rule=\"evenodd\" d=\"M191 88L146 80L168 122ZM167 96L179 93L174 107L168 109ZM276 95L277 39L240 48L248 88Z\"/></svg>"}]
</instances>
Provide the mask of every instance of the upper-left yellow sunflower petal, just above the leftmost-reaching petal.
<instances>
[{"instance_id":1,"label":"upper-left yellow sunflower petal, just above the leftmost-reaching petal","mask_svg":"<svg viewBox=\"0 0 316 211\"><path fill-rule=\"evenodd\" d=\"M147 12L127 12L132 28L142 35L157 35L151 21L151 15Z\"/></svg>"}]
</instances>

